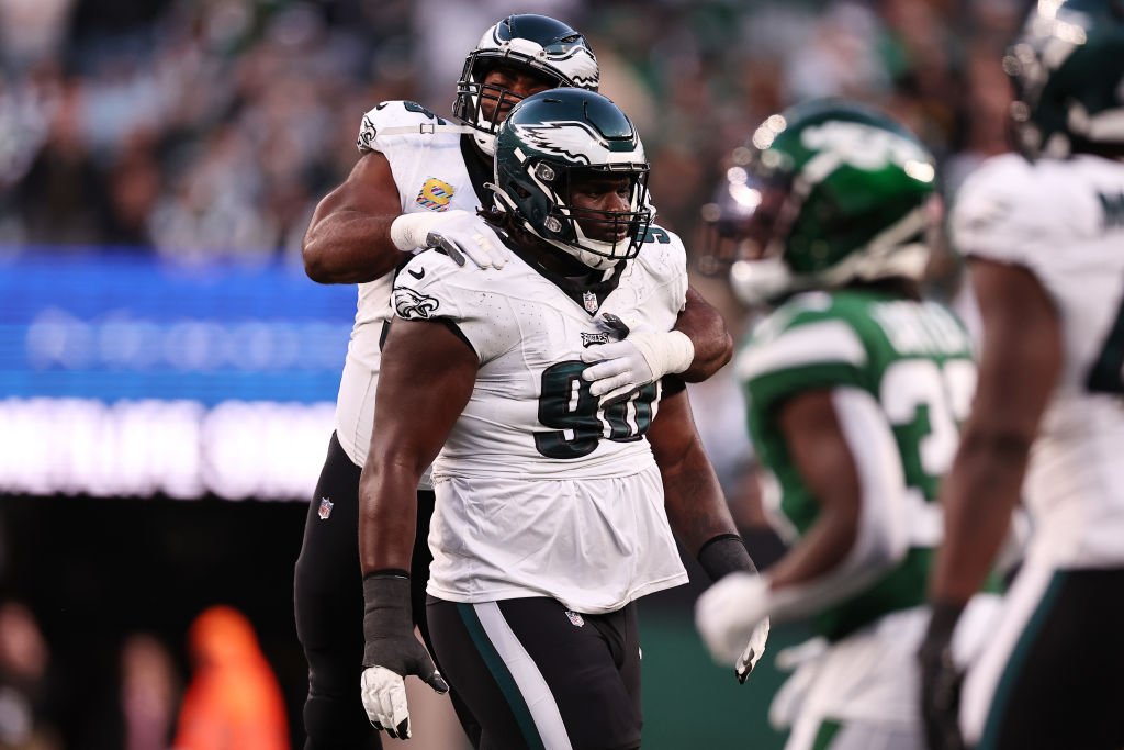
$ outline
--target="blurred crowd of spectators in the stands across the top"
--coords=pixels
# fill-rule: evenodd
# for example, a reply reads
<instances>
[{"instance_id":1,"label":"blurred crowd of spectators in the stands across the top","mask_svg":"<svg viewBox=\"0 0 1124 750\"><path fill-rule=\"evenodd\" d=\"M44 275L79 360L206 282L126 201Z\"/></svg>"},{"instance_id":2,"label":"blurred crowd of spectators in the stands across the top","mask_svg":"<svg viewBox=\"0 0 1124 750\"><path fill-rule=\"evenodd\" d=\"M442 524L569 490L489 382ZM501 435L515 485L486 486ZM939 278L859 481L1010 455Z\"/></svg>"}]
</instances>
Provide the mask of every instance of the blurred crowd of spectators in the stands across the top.
<instances>
[{"instance_id":1,"label":"blurred crowd of spectators in the stands across the top","mask_svg":"<svg viewBox=\"0 0 1124 750\"><path fill-rule=\"evenodd\" d=\"M765 116L859 97L952 187L1004 150L1018 0L0 0L0 249L299 262L316 201L383 99L451 109L509 12L583 30L636 120L660 220L692 236L724 154Z\"/></svg>"}]
</instances>

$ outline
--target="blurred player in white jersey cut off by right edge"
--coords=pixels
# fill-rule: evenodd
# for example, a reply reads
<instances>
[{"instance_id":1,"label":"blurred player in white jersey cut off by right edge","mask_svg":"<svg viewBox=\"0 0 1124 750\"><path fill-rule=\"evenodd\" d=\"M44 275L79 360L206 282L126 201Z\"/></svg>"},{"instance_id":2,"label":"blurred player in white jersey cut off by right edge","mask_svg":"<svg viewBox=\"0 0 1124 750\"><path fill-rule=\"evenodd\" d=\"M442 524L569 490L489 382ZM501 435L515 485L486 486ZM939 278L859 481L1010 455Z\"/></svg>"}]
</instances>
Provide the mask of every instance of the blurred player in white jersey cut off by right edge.
<instances>
[{"instance_id":1,"label":"blurred player in white jersey cut off by right edge","mask_svg":"<svg viewBox=\"0 0 1124 750\"><path fill-rule=\"evenodd\" d=\"M933 748L1124 747L1124 3L1042 0L1004 58L1021 154L964 182L982 324L921 651ZM1032 522L988 649L945 658L1012 510ZM958 723L959 701L959 723Z\"/></svg>"}]
</instances>

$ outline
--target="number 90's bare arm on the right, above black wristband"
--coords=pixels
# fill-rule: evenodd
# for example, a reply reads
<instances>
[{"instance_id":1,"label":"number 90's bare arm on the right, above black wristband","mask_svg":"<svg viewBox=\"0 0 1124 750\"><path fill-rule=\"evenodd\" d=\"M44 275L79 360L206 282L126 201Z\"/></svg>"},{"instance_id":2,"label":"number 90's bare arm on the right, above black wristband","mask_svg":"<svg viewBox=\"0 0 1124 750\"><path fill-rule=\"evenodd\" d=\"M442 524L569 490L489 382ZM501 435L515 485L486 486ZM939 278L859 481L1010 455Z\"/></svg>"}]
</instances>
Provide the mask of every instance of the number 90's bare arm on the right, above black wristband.
<instances>
[{"instance_id":1,"label":"number 90's bare arm on the right, above black wristband","mask_svg":"<svg viewBox=\"0 0 1124 750\"><path fill-rule=\"evenodd\" d=\"M686 390L660 401L647 440L663 479L668 521L683 548L698 557L699 549L715 536L736 534L718 477L703 451Z\"/></svg>"}]
</instances>

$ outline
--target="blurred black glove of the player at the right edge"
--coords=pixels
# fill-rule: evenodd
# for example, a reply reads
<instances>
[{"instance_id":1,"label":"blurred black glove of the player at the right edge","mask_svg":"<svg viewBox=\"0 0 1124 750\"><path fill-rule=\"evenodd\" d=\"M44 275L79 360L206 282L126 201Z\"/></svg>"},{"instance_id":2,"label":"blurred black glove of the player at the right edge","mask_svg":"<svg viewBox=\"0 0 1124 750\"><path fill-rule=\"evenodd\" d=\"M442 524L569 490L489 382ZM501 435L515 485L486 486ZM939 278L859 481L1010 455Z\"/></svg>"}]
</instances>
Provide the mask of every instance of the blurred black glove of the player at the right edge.
<instances>
[{"instance_id":1,"label":"blurred black glove of the player at the right edge","mask_svg":"<svg viewBox=\"0 0 1124 750\"><path fill-rule=\"evenodd\" d=\"M921 716L928 750L963 750L960 735L960 686L964 675L952 660L952 634L962 604L937 603L922 641Z\"/></svg>"}]
</instances>

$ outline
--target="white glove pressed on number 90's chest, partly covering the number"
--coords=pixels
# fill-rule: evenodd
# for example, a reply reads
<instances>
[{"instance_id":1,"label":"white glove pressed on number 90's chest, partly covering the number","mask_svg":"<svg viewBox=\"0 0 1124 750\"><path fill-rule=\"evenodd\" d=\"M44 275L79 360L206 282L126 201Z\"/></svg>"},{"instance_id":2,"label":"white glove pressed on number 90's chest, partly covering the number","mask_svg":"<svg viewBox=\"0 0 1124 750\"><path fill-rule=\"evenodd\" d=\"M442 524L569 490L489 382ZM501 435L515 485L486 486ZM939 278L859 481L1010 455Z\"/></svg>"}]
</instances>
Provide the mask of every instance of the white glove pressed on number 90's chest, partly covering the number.
<instances>
[{"instance_id":1,"label":"white glove pressed on number 90's chest, partly covering the number","mask_svg":"<svg viewBox=\"0 0 1124 750\"><path fill-rule=\"evenodd\" d=\"M655 382L669 372L682 372L695 359L695 344L679 331L637 331L624 341L590 346L581 353L582 379L593 382L589 392L605 399Z\"/></svg>"}]
</instances>

